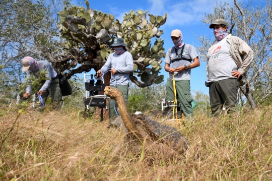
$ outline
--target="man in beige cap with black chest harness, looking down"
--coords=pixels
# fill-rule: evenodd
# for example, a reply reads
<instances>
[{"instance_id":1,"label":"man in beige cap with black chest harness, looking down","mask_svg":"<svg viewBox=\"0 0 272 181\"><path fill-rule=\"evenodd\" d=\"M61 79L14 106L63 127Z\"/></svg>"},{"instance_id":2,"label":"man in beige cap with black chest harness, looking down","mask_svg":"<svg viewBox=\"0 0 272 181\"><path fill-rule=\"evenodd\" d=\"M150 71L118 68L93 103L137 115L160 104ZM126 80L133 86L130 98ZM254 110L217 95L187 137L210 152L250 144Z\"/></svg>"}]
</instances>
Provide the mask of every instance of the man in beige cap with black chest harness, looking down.
<instances>
[{"instance_id":1,"label":"man in beige cap with black chest harness, looking down","mask_svg":"<svg viewBox=\"0 0 272 181\"><path fill-rule=\"evenodd\" d=\"M190 44L184 44L182 33L180 30L173 30L171 39L174 47L168 49L165 62L165 71L169 72L166 83L166 101L174 101L174 85L175 80L176 93L180 101L181 109L185 116L193 117L191 102L193 98L190 90L191 69L200 66L198 55L195 48ZM193 61L193 63L191 63ZM170 64L171 67L170 67Z\"/></svg>"}]
</instances>

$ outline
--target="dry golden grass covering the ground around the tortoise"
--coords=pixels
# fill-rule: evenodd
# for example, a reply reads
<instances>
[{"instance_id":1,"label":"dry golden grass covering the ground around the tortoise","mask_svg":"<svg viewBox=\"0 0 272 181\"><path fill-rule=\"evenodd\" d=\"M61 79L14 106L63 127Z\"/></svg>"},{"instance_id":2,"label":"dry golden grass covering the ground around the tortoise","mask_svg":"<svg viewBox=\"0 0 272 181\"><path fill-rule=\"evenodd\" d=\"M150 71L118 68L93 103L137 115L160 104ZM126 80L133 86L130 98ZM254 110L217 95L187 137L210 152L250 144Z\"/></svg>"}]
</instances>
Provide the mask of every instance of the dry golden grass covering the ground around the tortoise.
<instances>
[{"instance_id":1,"label":"dry golden grass covering the ground around the tortoise","mask_svg":"<svg viewBox=\"0 0 272 181\"><path fill-rule=\"evenodd\" d=\"M85 119L79 110L29 108L15 123L17 111L2 106L0 134L7 139L0 150L0 179L272 180L271 108L233 118L196 113L185 127L164 122L190 142L183 155L166 159L128 148L124 130L107 129L106 121Z\"/></svg>"}]
</instances>

